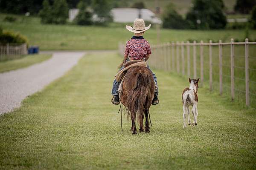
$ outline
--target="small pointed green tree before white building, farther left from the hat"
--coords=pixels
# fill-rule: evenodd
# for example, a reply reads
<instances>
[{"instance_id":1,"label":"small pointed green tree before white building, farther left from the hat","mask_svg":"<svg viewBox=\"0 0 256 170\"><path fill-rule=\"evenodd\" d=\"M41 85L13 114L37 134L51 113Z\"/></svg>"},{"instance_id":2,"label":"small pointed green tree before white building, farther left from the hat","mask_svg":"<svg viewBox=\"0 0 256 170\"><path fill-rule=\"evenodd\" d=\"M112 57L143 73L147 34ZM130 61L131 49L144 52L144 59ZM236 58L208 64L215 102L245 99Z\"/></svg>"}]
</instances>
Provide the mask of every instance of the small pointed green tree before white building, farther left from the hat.
<instances>
[{"instance_id":1,"label":"small pointed green tree before white building, farther left from the hat","mask_svg":"<svg viewBox=\"0 0 256 170\"><path fill-rule=\"evenodd\" d=\"M78 25L92 25L92 13L87 10L87 3L81 0L78 4L79 13L76 16L76 23Z\"/></svg>"}]
</instances>

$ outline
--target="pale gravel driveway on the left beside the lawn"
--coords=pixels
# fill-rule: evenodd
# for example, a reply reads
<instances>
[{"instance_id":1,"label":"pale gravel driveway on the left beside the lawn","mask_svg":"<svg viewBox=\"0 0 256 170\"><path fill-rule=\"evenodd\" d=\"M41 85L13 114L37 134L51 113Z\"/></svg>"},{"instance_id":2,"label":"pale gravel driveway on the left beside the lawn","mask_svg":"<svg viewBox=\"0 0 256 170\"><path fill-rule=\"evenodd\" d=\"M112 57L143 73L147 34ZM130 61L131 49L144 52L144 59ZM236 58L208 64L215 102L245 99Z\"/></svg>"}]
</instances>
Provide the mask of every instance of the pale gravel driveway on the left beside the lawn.
<instances>
[{"instance_id":1,"label":"pale gravel driveway on the left beside the lawn","mask_svg":"<svg viewBox=\"0 0 256 170\"><path fill-rule=\"evenodd\" d=\"M55 52L51 59L0 73L0 115L20 107L28 95L43 89L71 69L85 52Z\"/></svg>"}]
</instances>

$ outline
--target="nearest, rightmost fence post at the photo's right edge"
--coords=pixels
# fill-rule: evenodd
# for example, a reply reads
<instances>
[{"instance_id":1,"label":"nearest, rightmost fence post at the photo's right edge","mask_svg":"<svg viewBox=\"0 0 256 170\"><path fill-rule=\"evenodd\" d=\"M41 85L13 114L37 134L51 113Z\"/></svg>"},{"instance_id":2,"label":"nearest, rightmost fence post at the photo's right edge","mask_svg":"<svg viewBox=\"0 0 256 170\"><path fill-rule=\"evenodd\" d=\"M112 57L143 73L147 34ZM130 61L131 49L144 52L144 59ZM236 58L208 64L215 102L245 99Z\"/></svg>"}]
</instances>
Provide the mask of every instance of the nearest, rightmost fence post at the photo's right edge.
<instances>
[{"instance_id":1,"label":"nearest, rightmost fence post at the photo's right edge","mask_svg":"<svg viewBox=\"0 0 256 170\"><path fill-rule=\"evenodd\" d=\"M245 104L250 105L249 98L249 44L248 38L245 39Z\"/></svg>"}]
</instances>

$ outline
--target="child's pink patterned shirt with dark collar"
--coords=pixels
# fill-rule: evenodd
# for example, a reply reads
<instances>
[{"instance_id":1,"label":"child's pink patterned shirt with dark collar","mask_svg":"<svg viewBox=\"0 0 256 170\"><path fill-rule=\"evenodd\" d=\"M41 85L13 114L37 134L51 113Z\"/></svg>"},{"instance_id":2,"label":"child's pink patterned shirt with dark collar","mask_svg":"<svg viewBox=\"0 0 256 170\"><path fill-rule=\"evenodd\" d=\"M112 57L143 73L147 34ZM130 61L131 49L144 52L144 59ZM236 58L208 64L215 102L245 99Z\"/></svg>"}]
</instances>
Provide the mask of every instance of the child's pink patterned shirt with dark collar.
<instances>
[{"instance_id":1,"label":"child's pink patterned shirt with dark collar","mask_svg":"<svg viewBox=\"0 0 256 170\"><path fill-rule=\"evenodd\" d=\"M126 43L125 54L130 60L144 60L148 54L151 54L151 48L143 36L133 36Z\"/></svg>"}]
</instances>

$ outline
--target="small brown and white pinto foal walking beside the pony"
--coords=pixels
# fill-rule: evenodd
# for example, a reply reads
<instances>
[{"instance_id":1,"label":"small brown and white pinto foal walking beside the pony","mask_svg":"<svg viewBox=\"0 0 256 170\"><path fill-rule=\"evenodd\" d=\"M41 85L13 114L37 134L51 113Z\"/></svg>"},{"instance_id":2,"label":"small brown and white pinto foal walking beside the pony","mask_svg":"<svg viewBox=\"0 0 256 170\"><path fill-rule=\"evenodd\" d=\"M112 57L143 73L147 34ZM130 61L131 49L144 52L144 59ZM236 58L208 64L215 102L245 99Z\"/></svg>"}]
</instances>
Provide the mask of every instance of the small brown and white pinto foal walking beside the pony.
<instances>
[{"instance_id":1,"label":"small brown and white pinto foal walking beside the pony","mask_svg":"<svg viewBox=\"0 0 256 170\"><path fill-rule=\"evenodd\" d=\"M186 112L188 113L188 124L191 125L190 115L189 115L189 106L192 106L191 112L194 116L194 123L192 123L192 126L197 125L198 82L199 82L199 78L197 80L189 78L189 87L185 88L182 92L183 121L184 121L183 128L186 127Z\"/></svg>"}]
</instances>

